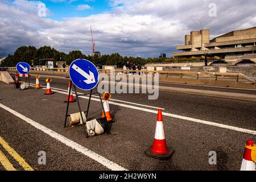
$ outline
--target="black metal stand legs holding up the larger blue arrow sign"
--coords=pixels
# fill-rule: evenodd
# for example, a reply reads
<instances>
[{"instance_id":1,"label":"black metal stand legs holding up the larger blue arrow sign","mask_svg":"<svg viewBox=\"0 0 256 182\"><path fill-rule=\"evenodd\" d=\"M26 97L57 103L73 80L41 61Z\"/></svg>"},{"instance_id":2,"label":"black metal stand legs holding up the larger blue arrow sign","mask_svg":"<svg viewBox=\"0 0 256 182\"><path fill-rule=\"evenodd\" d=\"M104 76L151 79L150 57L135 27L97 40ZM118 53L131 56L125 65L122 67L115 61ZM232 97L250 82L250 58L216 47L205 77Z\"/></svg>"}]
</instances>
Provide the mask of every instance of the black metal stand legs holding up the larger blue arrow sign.
<instances>
[{"instance_id":1,"label":"black metal stand legs holding up the larger blue arrow sign","mask_svg":"<svg viewBox=\"0 0 256 182\"><path fill-rule=\"evenodd\" d=\"M98 84L97 84L98 85ZM97 85L96 85L96 88L97 88ZM88 113L89 113L89 107L90 107L90 100L91 100L91 98L92 98L92 95L93 94L98 94L98 96L100 96L100 100L101 100L101 107L102 107L102 110L103 110L103 112L104 112L104 122L105 122L105 125L106 125L106 133L107 134L110 134L110 129L109 129L109 123L108 123L108 121L107 121L107 117L106 117L106 113L105 113L105 109L104 109L104 106L103 106L103 102L102 102L102 98L101 98L101 94L99 93L99 92L94 92L93 93L93 89L95 88L93 88L93 89L91 89L90 90L90 93L87 93L87 94L77 94L77 89L76 89L76 85L75 84L73 84L73 82L72 82L72 80L71 80L71 85L70 85L70 88L72 88L72 86L73 86L73 88L74 88L74 90L75 90L75 94L76 94L76 101L77 101L77 106L79 107L79 113L80 113L80 117L82 118L82 127L83 127L83 129L84 129L84 133L85 133L85 137L86 138L88 138L89 137L89 134L87 133L87 130L86 130L86 124L84 124L84 118L82 117L82 110L81 110L81 106L80 106L80 102L79 102L79 97L80 96L85 96L85 95L89 95L89 101L88 101L88 106L87 106L87 110L84 112L84 113L86 113L86 119L88 118ZM69 114L68 114L68 109L69 109L69 98L70 98L70 96L71 96L71 89L69 89L69 92L68 92L68 102L67 102L67 110L66 110L66 114L65 114L65 123L64 123L64 128L65 127L67 127L67 118L70 116Z\"/></svg>"}]
</instances>

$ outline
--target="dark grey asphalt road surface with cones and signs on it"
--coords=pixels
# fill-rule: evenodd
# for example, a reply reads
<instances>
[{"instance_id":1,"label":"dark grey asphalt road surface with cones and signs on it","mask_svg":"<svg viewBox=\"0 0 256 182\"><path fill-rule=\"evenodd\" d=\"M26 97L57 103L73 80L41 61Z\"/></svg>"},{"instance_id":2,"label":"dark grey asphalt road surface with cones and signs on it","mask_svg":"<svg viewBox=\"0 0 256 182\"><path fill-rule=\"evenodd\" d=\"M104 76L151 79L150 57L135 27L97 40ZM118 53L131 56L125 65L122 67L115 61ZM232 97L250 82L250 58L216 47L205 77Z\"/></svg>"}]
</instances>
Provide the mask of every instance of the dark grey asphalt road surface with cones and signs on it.
<instances>
[{"instance_id":1,"label":"dark grey asphalt road surface with cones and signs on it","mask_svg":"<svg viewBox=\"0 0 256 182\"><path fill-rule=\"evenodd\" d=\"M31 82L34 83L34 80ZM64 100L67 98L65 94L67 91L61 89L67 90L67 82L67 80L53 79L51 87L57 88L55 89L57 92L51 96L44 95L46 92L44 89L20 91L14 89L13 85L0 82L0 104L128 170L239 170L243 144L249 138L256 140L255 132L236 130L256 131L255 102L191 96L167 91L159 91L158 100L148 100L147 94L113 94L110 110L113 117L118 120L111 126L114 135L104 134L85 138L81 126L65 129L63 127L67 107ZM43 81L41 84L46 85ZM226 90L228 89L225 89L225 92ZM235 91L240 92L237 89ZM248 90L248 92L253 91ZM86 110L87 103L87 99L80 98L82 110ZM167 145L175 149L175 154L166 161L147 158L144 155L144 151L154 140L157 107L163 108L163 112L166 113L163 115L163 123ZM77 103L71 104L69 113L78 111ZM201 119L205 122L181 119L180 116ZM88 119L100 117L100 102L92 101ZM225 127L212 126L209 122L220 123ZM0 107L0 124L2 127L0 137L5 139L35 170L109 169L36 129L2 107ZM233 127L236 129L234 130ZM5 151L2 148L0 150ZM39 151L46 152L46 165L38 164ZM210 165L208 162L210 151L217 153L216 165ZM14 167L22 170L7 152L4 154ZM3 169L1 165L0 169Z\"/></svg>"}]
</instances>

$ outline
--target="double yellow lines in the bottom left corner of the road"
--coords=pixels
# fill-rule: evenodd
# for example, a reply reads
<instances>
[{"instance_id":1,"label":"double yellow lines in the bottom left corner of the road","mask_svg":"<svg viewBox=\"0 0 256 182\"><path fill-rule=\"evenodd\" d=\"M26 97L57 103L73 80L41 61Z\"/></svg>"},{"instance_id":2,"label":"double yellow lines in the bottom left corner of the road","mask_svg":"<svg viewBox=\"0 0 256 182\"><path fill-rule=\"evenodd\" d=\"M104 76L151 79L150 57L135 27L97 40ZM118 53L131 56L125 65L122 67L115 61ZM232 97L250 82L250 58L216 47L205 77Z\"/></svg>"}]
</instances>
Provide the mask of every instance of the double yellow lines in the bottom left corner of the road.
<instances>
[{"instance_id":1,"label":"double yellow lines in the bottom left corner of the road","mask_svg":"<svg viewBox=\"0 0 256 182\"><path fill-rule=\"evenodd\" d=\"M0 144L16 160L16 162L23 167L25 171L34 171L34 169L32 169L30 165L28 165L26 161L13 148L11 148L2 137L0 137ZM0 163L7 171L16 171L13 164L10 163L10 160L6 158L2 151L0 151Z\"/></svg>"}]
</instances>

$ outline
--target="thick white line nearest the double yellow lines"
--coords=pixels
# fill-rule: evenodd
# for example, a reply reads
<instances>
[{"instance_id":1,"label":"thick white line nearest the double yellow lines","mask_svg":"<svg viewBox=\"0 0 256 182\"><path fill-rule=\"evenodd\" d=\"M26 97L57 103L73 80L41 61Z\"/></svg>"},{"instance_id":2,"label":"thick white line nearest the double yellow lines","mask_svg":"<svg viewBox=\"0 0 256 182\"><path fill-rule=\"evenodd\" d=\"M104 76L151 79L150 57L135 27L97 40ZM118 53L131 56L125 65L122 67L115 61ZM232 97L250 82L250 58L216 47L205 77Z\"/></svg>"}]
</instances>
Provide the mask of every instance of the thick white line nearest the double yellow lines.
<instances>
[{"instance_id":1,"label":"thick white line nearest the double yellow lines","mask_svg":"<svg viewBox=\"0 0 256 182\"><path fill-rule=\"evenodd\" d=\"M119 166L118 164L115 164L114 162L104 158L101 155L98 155L97 153L89 150L88 148L85 148L81 146L80 144L73 142L72 140L64 137L63 135L60 135L56 133L55 131L48 129L47 127L40 125L39 123L33 121L30 118L27 118L26 116L16 112L13 109L10 109L9 107L0 104L0 107L3 109L9 111L10 113L16 115L16 117L19 117L20 119L23 119L23 121L26 121L30 125L34 126L36 129L43 131L44 133L48 134L52 138L58 140L61 143L64 143L66 146L73 148L74 150L80 152L81 154L84 154L85 156L88 156L89 158L96 160L98 163L102 164L103 166L113 170L113 171L127 171L127 169Z\"/></svg>"}]
</instances>

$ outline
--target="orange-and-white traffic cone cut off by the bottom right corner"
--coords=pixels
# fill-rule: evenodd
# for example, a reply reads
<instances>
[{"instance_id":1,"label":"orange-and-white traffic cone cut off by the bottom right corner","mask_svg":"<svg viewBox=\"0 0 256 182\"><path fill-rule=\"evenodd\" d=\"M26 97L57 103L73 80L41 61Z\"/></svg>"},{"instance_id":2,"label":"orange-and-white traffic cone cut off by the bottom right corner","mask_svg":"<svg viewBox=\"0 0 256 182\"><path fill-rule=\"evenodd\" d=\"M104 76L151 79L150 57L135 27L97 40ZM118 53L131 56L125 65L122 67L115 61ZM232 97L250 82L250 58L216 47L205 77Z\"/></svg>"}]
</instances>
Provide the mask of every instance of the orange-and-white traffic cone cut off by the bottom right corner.
<instances>
[{"instance_id":1,"label":"orange-and-white traffic cone cut off by the bottom right corner","mask_svg":"<svg viewBox=\"0 0 256 182\"><path fill-rule=\"evenodd\" d=\"M256 171L256 144L253 140L247 140L245 144L245 152L243 152L243 160L240 171Z\"/></svg>"}]
</instances>

